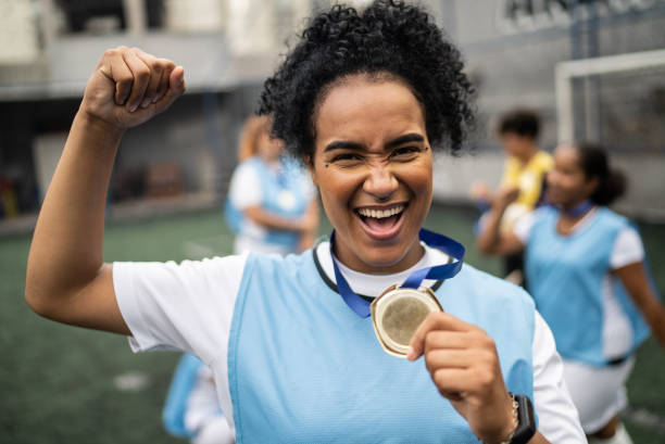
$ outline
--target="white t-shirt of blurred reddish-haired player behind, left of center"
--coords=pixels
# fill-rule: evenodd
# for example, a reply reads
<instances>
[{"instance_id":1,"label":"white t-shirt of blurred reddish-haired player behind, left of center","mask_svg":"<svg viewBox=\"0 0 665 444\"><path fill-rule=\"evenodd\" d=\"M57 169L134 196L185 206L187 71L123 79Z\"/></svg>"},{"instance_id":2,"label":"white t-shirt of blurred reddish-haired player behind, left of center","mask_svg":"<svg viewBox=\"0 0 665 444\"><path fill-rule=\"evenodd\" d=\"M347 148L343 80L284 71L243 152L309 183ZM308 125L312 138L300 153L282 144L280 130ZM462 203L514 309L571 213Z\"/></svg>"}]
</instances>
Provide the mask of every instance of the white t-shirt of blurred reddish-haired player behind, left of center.
<instances>
[{"instance_id":1,"label":"white t-shirt of blurred reddish-haired player behind, left of center","mask_svg":"<svg viewBox=\"0 0 665 444\"><path fill-rule=\"evenodd\" d=\"M281 163L269 166L274 174L277 174L280 167ZM293 168L293 172L296 170L298 169ZM300 191L303 193L305 201L310 202L316 195L316 189L304 172L298 172L302 173ZM259 177L256 168L252 167L250 163L243 162L238 165L231 176L228 188L228 199L230 199L236 208L243 211L250 206L261 205L263 202L262 189L261 177ZM290 249L283 245L263 242L262 239L264 239L267 233L267 230L263 226L249 218L246 218L243 224L246 224L242 228L243 233L236 236L234 253L255 252L265 254L277 253L281 255L293 253Z\"/></svg>"}]
</instances>

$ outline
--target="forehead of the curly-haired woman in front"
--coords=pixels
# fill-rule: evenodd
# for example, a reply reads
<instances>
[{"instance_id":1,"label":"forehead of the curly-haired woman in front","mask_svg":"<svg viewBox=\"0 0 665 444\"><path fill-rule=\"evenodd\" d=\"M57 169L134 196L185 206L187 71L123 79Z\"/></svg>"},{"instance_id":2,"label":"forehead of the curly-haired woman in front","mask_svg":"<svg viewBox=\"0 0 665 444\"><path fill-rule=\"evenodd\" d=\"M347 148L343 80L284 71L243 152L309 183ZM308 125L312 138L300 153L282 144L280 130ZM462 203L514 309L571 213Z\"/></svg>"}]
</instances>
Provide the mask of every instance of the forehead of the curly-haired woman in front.
<instances>
[{"instance_id":1,"label":"forehead of the curly-haired woman in front","mask_svg":"<svg viewBox=\"0 0 665 444\"><path fill-rule=\"evenodd\" d=\"M413 92L399 80L350 77L332 86L314 116L315 145L352 140L374 145L405 132L424 137L425 114Z\"/></svg>"}]
</instances>

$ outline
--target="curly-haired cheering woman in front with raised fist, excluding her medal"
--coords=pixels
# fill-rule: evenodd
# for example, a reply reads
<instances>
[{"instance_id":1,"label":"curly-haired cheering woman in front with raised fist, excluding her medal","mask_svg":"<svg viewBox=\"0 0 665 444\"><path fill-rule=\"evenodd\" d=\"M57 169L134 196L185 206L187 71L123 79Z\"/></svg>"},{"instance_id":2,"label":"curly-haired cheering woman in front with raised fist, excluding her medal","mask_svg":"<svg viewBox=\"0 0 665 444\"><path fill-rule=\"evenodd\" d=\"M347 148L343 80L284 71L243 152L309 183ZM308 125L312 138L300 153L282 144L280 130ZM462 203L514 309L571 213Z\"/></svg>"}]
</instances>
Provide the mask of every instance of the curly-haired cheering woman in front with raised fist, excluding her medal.
<instances>
[{"instance_id":1,"label":"curly-haired cheering woman in front with raised fist, excluding her medal","mask_svg":"<svg viewBox=\"0 0 665 444\"><path fill-rule=\"evenodd\" d=\"M28 304L128 335L135 351L193 353L213 370L238 442L584 442L553 339L526 293L466 265L432 279L460 269L449 264L460 249L419 241L432 148L460 150L472 120L462 68L418 8L377 1L362 14L318 14L266 80L262 112L308 166L335 243L287 257L111 265L103 202L122 134L185 87L171 62L108 51L36 227ZM446 313L430 314L399 359L356 310L357 293L372 299L406 278L436 292Z\"/></svg>"}]
</instances>

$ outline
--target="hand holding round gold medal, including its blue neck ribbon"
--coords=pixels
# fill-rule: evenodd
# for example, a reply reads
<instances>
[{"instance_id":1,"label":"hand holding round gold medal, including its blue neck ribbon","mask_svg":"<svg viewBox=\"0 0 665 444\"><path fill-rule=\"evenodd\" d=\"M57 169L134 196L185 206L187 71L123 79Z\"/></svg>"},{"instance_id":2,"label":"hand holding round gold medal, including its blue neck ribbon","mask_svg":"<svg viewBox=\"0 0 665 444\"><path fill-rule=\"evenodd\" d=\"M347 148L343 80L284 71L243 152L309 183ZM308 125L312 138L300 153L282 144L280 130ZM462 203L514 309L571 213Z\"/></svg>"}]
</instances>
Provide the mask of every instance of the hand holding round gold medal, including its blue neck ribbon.
<instances>
[{"instance_id":1,"label":"hand holding round gold medal, including its blue neck ribbon","mask_svg":"<svg viewBox=\"0 0 665 444\"><path fill-rule=\"evenodd\" d=\"M372 316L374 331L384 350L410 360L425 355L425 366L442 396L469 423L482 442L502 442L516 422L494 342L470 324L443 312L435 293L421 286L424 279L449 279L462 268L464 246L426 229L422 241L447 253L454 262L414 271L372 303L351 290L332 258L342 299L360 317ZM335 232L330 236L330 252Z\"/></svg>"}]
</instances>

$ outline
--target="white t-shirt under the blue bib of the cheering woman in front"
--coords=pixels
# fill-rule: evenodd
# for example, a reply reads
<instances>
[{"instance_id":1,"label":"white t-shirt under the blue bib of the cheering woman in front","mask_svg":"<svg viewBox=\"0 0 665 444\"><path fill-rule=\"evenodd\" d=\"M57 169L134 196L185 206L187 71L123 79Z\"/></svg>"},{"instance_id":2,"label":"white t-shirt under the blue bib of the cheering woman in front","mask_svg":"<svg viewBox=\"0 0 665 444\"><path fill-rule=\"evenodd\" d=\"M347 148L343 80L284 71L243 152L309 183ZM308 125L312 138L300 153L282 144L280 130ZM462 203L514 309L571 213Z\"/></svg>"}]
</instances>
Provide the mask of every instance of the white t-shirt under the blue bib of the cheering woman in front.
<instances>
[{"instance_id":1,"label":"white t-shirt under the blue bib of the cheering woman in front","mask_svg":"<svg viewBox=\"0 0 665 444\"><path fill-rule=\"evenodd\" d=\"M447 262L440 251L426 248L421 268ZM335 282L329 244L316 249L327 278ZM200 262L114 263L113 284L118 306L133 337L133 351L183 350L199 356L215 376L219 405L231 428L227 351L236 295L247 254ZM411 270L365 275L340 267L356 293L378 295L405 279ZM427 283L427 282L425 282ZM577 411L563 381L563 365L554 339L536 314L534 334L534 404L540 432L552 443L584 443Z\"/></svg>"}]
</instances>

